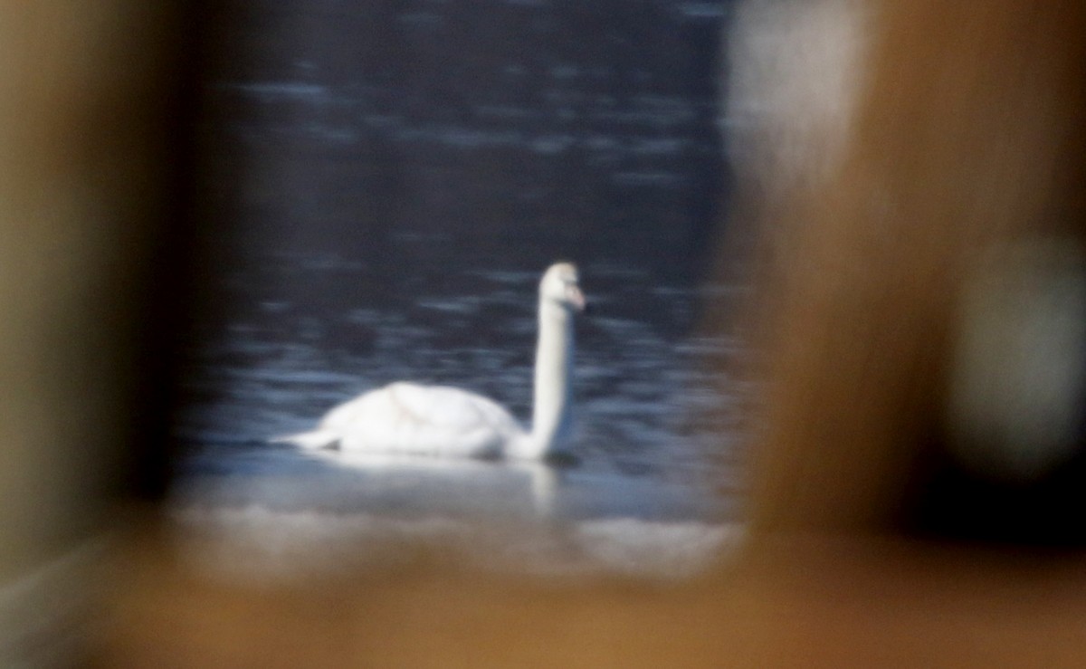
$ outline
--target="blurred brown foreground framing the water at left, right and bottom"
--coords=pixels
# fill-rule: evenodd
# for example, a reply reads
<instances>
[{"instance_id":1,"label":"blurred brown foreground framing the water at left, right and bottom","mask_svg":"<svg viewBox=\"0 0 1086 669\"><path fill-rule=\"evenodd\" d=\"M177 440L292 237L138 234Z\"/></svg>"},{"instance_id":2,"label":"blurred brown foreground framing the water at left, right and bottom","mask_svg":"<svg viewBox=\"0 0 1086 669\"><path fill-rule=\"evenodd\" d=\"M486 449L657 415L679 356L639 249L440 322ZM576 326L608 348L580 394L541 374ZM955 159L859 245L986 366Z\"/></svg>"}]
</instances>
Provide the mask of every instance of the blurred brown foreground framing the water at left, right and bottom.
<instances>
[{"instance_id":1,"label":"blurred brown foreground framing the water at left, right and bottom","mask_svg":"<svg viewBox=\"0 0 1086 669\"><path fill-rule=\"evenodd\" d=\"M160 415L134 357L168 318L132 295L168 249L142 224L178 215L160 87L180 47L157 38L180 18L111 9L0 10L4 660L1086 660L1079 3L741 7L724 121L749 225L721 265L755 291L710 325L746 338L765 392L749 526L678 581L510 575L409 538L345 572L217 579L151 503L118 520L115 445ZM137 469L153 500L164 478Z\"/></svg>"}]
</instances>

